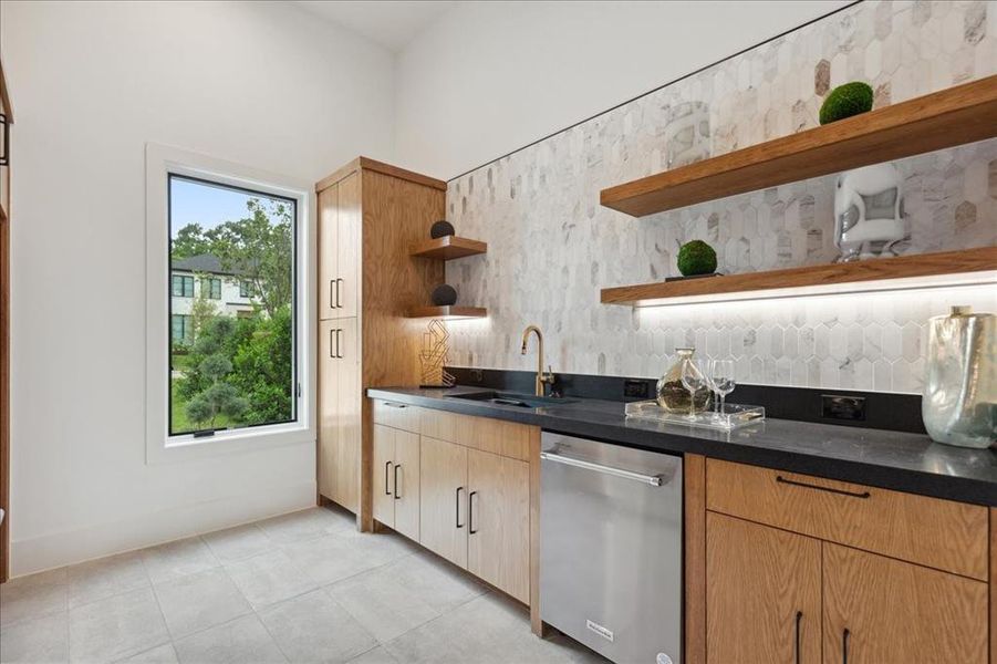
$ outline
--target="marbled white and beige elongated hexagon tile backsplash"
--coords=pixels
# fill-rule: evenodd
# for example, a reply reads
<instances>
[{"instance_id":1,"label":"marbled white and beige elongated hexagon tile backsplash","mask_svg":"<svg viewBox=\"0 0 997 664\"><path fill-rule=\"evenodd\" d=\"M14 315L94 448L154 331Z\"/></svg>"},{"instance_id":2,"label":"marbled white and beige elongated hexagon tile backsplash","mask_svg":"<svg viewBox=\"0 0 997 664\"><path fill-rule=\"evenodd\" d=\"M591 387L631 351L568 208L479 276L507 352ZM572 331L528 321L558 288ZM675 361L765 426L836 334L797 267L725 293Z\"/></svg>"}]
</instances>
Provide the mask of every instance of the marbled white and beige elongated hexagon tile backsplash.
<instances>
[{"instance_id":1,"label":"marbled white and beige elongated hexagon tile backsplash","mask_svg":"<svg viewBox=\"0 0 997 664\"><path fill-rule=\"evenodd\" d=\"M956 303L997 311L997 289L599 302L602 288L677 274L695 238L728 273L833 260L833 176L642 219L601 207L599 191L665 169L675 104L708 105L716 156L816 126L845 81L868 81L882 106L995 71L997 2L862 2L451 180L448 217L488 253L447 263L447 281L489 318L448 324L450 364L532 370L519 338L537 323L555 373L655 377L689 345L733 357L746 383L920 393L927 319ZM900 252L997 245L997 139L896 165Z\"/></svg>"}]
</instances>

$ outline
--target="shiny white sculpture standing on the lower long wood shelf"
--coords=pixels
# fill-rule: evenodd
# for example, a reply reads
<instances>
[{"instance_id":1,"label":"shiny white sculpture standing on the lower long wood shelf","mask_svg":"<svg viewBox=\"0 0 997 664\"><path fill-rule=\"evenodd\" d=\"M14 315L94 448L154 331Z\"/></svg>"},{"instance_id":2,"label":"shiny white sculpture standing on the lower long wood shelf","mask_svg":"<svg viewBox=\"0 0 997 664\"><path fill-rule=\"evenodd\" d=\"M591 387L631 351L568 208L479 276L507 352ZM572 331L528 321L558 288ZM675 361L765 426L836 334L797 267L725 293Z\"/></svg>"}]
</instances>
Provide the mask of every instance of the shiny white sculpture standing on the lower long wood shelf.
<instances>
[{"instance_id":1,"label":"shiny white sculpture standing on the lower long wood shelf","mask_svg":"<svg viewBox=\"0 0 997 664\"><path fill-rule=\"evenodd\" d=\"M895 256L906 237L903 190L893 164L876 164L838 176L834 189L834 243L840 262Z\"/></svg>"}]
</instances>

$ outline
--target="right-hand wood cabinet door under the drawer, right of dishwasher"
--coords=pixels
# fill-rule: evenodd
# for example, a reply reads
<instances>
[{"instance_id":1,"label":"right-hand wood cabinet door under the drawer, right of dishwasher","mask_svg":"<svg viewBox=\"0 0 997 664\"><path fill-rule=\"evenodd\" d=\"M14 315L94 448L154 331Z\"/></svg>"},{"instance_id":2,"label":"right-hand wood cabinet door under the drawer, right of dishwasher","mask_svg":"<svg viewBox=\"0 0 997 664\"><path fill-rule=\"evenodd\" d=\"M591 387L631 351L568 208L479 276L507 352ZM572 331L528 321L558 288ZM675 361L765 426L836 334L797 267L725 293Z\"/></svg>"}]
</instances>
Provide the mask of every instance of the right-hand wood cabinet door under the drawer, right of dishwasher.
<instances>
[{"instance_id":1,"label":"right-hand wood cabinet door under the drawer, right of dishwasher","mask_svg":"<svg viewBox=\"0 0 997 664\"><path fill-rule=\"evenodd\" d=\"M823 547L827 664L986 664L986 583Z\"/></svg>"}]
</instances>

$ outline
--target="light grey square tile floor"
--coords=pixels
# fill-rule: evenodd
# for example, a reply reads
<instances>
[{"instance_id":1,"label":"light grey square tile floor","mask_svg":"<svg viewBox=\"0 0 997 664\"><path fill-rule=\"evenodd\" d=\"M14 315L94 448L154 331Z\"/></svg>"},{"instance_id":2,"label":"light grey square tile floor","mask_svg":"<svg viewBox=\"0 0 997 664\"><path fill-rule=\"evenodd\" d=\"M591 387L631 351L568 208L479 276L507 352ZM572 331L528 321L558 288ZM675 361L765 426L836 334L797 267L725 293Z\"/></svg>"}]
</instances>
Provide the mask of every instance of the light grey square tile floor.
<instances>
[{"instance_id":1,"label":"light grey square tile floor","mask_svg":"<svg viewBox=\"0 0 997 664\"><path fill-rule=\"evenodd\" d=\"M0 585L0 662L598 663L394 533L314 508Z\"/></svg>"}]
</instances>

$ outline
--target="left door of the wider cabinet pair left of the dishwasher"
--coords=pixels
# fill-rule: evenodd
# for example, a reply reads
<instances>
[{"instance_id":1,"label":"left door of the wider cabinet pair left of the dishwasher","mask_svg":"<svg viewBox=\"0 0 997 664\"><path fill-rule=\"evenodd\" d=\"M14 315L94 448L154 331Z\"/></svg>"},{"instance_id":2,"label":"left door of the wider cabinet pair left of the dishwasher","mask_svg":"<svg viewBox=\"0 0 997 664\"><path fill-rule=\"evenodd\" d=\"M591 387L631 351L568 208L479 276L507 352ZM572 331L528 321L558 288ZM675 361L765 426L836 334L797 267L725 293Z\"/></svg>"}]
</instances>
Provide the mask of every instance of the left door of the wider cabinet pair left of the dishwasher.
<instances>
[{"instance_id":1,"label":"left door of the wider cabinet pair left of the dishwasher","mask_svg":"<svg viewBox=\"0 0 997 664\"><path fill-rule=\"evenodd\" d=\"M419 438L419 543L467 568L467 448Z\"/></svg>"}]
</instances>

